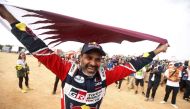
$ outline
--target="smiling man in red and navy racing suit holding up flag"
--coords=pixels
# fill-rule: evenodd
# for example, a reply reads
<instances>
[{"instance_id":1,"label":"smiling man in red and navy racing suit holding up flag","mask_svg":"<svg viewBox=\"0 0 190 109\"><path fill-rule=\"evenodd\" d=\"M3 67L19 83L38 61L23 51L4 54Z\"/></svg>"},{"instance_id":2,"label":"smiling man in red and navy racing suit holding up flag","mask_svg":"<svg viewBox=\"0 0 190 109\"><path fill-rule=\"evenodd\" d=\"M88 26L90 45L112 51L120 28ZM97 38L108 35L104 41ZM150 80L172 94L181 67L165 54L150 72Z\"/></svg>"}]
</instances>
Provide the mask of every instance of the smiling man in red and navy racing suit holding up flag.
<instances>
[{"instance_id":1,"label":"smiling man in red and navy racing suit holding up flag","mask_svg":"<svg viewBox=\"0 0 190 109\"><path fill-rule=\"evenodd\" d=\"M60 78L62 109L99 109L107 86L138 71L150 63L155 55L165 52L168 47L168 44L162 45L149 52L146 57L131 60L130 63L105 71L100 67L101 58L105 56L100 45L84 44L79 64L64 61L2 5L0 5L0 16L11 24L12 33L30 53Z\"/></svg>"}]
</instances>

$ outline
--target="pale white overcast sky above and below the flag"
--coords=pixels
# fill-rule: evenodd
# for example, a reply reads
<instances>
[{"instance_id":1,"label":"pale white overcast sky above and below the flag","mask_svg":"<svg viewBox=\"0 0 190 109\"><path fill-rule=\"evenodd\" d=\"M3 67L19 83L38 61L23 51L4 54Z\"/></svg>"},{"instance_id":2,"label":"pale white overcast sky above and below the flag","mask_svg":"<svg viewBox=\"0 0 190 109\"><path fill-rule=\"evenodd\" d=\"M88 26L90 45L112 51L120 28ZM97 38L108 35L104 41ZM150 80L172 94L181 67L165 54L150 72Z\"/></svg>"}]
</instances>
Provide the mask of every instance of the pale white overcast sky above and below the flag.
<instances>
[{"instance_id":1,"label":"pale white overcast sky above and below the flag","mask_svg":"<svg viewBox=\"0 0 190 109\"><path fill-rule=\"evenodd\" d=\"M2 0L0 0L2 1ZM100 24L139 31L168 40L170 47L161 59L190 58L189 0L7 0L17 6L46 10ZM21 45L0 24L0 44ZM82 43L64 42L56 48L78 50ZM102 44L109 55L140 55L154 50L158 43L141 41ZM50 46L50 48L52 48Z\"/></svg>"}]
</instances>

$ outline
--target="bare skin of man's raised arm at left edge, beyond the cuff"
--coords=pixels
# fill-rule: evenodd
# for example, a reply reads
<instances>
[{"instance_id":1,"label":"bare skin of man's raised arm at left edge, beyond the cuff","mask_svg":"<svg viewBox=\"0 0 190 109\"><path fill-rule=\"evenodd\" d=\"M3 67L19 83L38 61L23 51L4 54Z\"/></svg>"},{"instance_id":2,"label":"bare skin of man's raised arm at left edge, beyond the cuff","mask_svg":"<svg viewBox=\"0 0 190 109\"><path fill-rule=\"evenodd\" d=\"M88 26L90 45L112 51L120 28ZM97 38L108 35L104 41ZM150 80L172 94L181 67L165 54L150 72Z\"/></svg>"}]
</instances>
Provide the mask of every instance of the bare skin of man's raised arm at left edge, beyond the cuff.
<instances>
[{"instance_id":1,"label":"bare skin of man's raised arm at left edge, beyond the cuff","mask_svg":"<svg viewBox=\"0 0 190 109\"><path fill-rule=\"evenodd\" d=\"M10 24L17 21L17 19L2 4L0 4L0 16Z\"/></svg>"}]
</instances>

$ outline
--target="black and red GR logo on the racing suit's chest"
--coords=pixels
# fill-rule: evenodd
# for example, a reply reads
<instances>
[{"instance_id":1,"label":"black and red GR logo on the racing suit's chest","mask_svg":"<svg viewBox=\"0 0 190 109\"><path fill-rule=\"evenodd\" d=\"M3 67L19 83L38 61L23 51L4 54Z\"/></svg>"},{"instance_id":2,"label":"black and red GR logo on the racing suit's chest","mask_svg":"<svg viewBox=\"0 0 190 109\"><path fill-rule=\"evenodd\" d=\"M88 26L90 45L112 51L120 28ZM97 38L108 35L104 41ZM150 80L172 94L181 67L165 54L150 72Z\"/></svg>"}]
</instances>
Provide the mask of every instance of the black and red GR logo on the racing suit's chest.
<instances>
[{"instance_id":1,"label":"black and red GR logo on the racing suit's chest","mask_svg":"<svg viewBox=\"0 0 190 109\"><path fill-rule=\"evenodd\" d=\"M72 88L68 95L76 100L85 100L87 92Z\"/></svg>"}]
</instances>

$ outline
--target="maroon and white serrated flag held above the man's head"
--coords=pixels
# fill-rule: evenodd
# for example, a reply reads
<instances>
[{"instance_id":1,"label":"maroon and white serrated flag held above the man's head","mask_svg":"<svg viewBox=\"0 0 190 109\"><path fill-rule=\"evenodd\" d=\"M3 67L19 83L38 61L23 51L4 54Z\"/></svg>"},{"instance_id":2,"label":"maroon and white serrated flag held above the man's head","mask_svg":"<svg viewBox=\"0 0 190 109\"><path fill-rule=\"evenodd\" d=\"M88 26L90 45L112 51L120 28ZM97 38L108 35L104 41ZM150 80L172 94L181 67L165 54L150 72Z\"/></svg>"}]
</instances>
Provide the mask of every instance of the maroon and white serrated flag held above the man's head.
<instances>
[{"instance_id":1,"label":"maroon and white serrated flag held above the man's head","mask_svg":"<svg viewBox=\"0 0 190 109\"><path fill-rule=\"evenodd\" d=\"M49 44L57 45L66 41L77 41L82 43L97 42L99 44L108 42L121 43L123 40L130 42L149 40L160 44L167 43L166 39L133 30L98 24L43 10L27 9L9 4L4 5L15 8L14 11L12 11L13 14L17 13L17 10L22 10L22 18L38 18L38 20L32 23L25 23L36 25L37 28L33 30L34 32L43 30L39 36L45 35L44 39L53 39ZM18 20L22 22L22 19ZM49 25L44 26L43 24Z\"/></svg>"}]
</instances>

